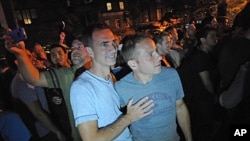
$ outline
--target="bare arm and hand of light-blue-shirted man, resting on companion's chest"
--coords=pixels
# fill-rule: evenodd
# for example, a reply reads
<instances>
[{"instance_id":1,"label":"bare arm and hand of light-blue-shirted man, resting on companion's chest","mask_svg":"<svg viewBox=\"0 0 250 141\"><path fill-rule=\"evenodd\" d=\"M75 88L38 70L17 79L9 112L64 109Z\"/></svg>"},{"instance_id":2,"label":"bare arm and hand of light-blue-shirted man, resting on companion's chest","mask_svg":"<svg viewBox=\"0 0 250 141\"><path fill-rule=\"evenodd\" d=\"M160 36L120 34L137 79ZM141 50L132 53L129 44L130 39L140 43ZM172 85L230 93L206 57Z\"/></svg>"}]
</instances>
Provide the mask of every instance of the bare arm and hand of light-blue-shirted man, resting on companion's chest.
<instances>
[{"instance_id":1,"label":"bare arm and hand of light-blue-shirted man, resting on companion's chest","mask_svg":"<svg viewBox=\"0 0 250 141\"><path fill-rule=\"evenodd\" d=\"M132 122L139 120L145 116L150 115L153 101L145 97L132 105L131 99L127 105L127 114L118 118L114 123L98 128L98 122L96 120L84 122L78 125L78 130L84 141L110 141L119 136L125 128L127 128Z\"/></svg>"}]
</instances>

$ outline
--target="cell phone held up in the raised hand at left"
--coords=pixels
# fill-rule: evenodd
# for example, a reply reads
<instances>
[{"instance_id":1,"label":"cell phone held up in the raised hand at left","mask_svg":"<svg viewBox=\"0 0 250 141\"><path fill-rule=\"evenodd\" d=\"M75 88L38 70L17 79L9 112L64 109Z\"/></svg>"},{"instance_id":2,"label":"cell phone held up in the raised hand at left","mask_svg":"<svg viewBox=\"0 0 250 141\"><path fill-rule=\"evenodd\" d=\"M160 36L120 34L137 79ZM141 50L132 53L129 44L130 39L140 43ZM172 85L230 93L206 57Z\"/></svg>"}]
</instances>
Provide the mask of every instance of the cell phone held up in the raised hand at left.
<instances>
[{"instance_id":1,"label":"cell phone held up in the raised hand at left","mask_svg":"<svg viewBox=\"0 0 250 141\"><path fill-rule=\"evenodd\" d=\"M13 38L13 40L15 40L16 43L28 38L23 27L16 28L8 34Z\"/></svg>"}]
</instances>

